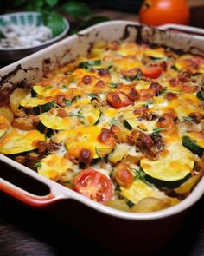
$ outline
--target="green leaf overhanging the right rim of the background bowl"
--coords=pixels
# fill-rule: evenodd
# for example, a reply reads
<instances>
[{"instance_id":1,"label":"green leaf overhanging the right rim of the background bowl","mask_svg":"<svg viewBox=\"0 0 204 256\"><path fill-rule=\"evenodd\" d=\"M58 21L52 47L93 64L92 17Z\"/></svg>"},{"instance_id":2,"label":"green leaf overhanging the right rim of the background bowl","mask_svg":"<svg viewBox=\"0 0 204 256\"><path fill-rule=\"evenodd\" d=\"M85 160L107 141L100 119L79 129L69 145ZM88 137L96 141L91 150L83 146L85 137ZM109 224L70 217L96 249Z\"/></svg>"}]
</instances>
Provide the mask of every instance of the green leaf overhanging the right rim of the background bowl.
<instances>
[{"instance_id":1,"label":"green leaf overhanging the right rim of the background bowl","mask_svg":"<svg viewBox=\"0 0 204 256\"><path fill-rule=\"evenodd\" d=\"M66 29L63 17L57 13L43 15L43 23L52 30L54 37Z\"/></svg>"}]
</instances>

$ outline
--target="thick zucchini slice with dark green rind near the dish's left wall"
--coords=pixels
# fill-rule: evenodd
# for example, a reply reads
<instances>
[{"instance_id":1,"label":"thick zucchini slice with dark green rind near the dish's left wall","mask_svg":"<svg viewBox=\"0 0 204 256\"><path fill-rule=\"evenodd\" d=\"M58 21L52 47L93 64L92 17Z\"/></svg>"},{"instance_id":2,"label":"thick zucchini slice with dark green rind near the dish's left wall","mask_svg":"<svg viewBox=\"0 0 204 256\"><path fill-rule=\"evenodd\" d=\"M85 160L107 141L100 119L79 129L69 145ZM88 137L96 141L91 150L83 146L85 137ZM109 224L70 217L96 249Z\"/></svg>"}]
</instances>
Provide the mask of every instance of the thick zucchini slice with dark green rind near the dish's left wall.
<instances>
[{"instance_id":1,"label":"thick zucchini slice with dark green rind near the dish's left wall","mask_svg":"<svg viewBox=\"0 0 204 256\"><path fill-rule=\"evenodd\" d=\"M39 115L44 112L48 112L54 107L53 97L46 99L25 97L20 102L19 108L23 108L27 114Z\"/></svg>"}]
</instances>

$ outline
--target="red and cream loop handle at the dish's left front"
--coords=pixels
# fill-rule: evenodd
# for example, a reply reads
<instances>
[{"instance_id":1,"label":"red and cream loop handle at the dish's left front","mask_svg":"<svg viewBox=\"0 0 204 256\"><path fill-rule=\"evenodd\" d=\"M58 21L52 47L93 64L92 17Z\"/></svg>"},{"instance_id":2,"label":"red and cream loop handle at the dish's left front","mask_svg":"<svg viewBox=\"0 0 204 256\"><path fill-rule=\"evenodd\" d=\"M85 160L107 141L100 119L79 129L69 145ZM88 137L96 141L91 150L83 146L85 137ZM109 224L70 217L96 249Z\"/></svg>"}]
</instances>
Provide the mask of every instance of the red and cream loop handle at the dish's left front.
<instances>
[{"instance_id":1,"label":"red and cream loop handle at the dish's left front","mask_svg":"<svg viewBox=\"0 0 204 256\"><path fill-rule=\"evenodd\" d=\"M31 194L21 187L16 187L16 185L5 181L0 178L0 191L5 194L10 195L16 200L20 200L31 207L47 207L48 205L54 203L55 201L65 198L65 196L54 186L48 186L49 193L43 196Z\"/></svg>"}]
</instances>

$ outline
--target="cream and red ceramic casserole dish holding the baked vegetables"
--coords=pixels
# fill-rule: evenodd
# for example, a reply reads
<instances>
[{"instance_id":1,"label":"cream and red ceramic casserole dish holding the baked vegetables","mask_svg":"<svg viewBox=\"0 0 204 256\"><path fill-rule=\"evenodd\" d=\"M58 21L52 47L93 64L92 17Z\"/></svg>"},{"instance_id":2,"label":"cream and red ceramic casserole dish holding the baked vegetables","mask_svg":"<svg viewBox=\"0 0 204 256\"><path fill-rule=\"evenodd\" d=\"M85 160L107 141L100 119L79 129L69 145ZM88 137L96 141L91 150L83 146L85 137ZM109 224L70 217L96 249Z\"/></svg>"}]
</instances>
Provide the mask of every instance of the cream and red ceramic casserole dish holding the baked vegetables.
<instances>
[{"instance_id":1,"label":"cream and red ceramic casserole dish holding the baked vegetables","mask_svg":"<svg viewBox=\"0 0 204 256\"><path fill-rule=\"evenodd\" d=\"M171 27L168 27L168 29L170 30ZM15 62L10 66L1 69L0 83L2 88L13 84L34 84L35 82L38 82L42 75L48 72L48 70L54 69L54 67L59 64L62 65L63 63L69 62L75 59L78 55L85 55L90 49L90 44L97 40L105 40L109 42L121 39L134 40L138 43L155 43L165 45L169 48L191 52L195 55L203 55L204 49L201 44L203 40L201 36L202 31L191 31L191 34L199 34L198 36L192 36L183 33L188 30L188 28L184 27L182 30L182 33L178 34L168 32L164 30L164 27L158 30L143 27L138 23L123 21L101 23L90 29L81 31L77 36L71 36L60 43L56 43L47 49L35 53L35 55L28 56L22 59L22 61ZM9 181L4 181L3 179L1 179L0 184L1 191L34 207L48 206L54 201L68 199L69 201L67 202L67 205L69 204L71 208L69 214L72 214L73 216L77 215L77 213L75 213L76 206L81 207L80 203L82 203L86 205L86 207L84 207L85 215L86 213L89 216L97 215L99 221L96 223L100 226L99 238L104 242L106 241L105 244L110 244L110 238L112 238L112 247L117 246L117 241L121 240L121 242L124 242L124 246L119 249L123 250L125 253L131 250L136 250L136 240L138 253L144 250L144 244L149 245L145 246L148 247L148 249L161 246L174 231L174 227L180 222L180 218L184 211L187 210L188 207L193 206L203 194L204 180L201 179L194 188L192 194L189 194L185 200L182 200L181 203L174 207L155 213L127 213L110 207L105 207L104 205L99 205L98 203L67 189L67 187L62 187L60 184L36 174L28 167L24 167L4 155L1 155L1 160L10 165L10 167L15 167L21 170L22 173L29 174L29 176L34 179L47 184L50 193L45 196L30 194L22 188L16 187L15 185L10 184ZM61 203L62 202L60 202L60 204ZM104 226L102 220L109 220L109 227ZM79 222L80 226L86 226L86 224L89 223L89 221L84 223L81 220ZM94 226L95 225L92 227ZM87 226L85 228L87 228ZM136 229L140 230L137 234L135 233ZM104 232L102 232L102 230L104 230ZM105 233L105 230L108 231L108 234ZM128 231L129 234L126 238L124 238L123 235L124 230L126 230L126 232ZM166 234L165 236L163 235L164 230ZM96 233L96 230L90 232L93 236L94 233ZM109 238L107 238L107 236L109 236ZM152 237L154 237L154 240Z\"/></svg>"}]
</instances>

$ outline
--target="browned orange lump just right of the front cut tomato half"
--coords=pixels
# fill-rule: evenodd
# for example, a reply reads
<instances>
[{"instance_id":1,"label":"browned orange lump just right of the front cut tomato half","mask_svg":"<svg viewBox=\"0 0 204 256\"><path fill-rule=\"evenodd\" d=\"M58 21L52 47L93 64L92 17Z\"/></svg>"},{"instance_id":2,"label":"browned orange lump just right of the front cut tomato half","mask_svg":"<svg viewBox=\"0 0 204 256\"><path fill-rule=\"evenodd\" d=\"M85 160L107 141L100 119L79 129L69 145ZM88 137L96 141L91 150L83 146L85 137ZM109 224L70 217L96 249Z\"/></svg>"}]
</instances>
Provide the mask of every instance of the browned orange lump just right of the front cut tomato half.
<instances>
[{"instance_id":1,"label":"browned orange lump just right of the front cut tomato half","mask_svg":"<svg viewBox=\"0 0 204 256\"><path fill-rule=\"evenodd\" d=\"M121 187L131 187L131 184L134 181L134 176L131 173L131 167L125 163L118 164L118 166L115 167L112 176Z\"/></svg>"}]
</instances>

